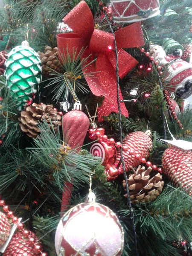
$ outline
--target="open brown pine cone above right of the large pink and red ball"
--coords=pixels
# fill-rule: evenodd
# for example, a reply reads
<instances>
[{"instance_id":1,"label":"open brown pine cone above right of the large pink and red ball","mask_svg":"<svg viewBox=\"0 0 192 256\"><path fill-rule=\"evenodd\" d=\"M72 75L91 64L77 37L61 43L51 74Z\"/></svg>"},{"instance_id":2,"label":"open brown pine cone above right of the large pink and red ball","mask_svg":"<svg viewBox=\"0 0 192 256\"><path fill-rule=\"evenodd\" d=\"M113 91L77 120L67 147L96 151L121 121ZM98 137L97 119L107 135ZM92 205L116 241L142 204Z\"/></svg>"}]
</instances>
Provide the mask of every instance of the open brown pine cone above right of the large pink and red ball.
<instances>
[{"instance_id":1,"label":"open brown pine cone above right of the large pink and red ball","mask_svg":"<svg viewBox=\"0 0 192 256\"><path fill-rule=\"evenodd\" d=\"M152 176L152 168L139 166L137 171L130 166L134 174L129 175L128 185L129 185L129 195L132 203L140 202L150 202L157 198L163 189L164 182L162 176L158 172L156 175ZM123 180L123 186L125 188L125 180ZM126 191L126 189L125 189ZM124 195L127 197L127 195Z\"/></svg>"}]
</instances>

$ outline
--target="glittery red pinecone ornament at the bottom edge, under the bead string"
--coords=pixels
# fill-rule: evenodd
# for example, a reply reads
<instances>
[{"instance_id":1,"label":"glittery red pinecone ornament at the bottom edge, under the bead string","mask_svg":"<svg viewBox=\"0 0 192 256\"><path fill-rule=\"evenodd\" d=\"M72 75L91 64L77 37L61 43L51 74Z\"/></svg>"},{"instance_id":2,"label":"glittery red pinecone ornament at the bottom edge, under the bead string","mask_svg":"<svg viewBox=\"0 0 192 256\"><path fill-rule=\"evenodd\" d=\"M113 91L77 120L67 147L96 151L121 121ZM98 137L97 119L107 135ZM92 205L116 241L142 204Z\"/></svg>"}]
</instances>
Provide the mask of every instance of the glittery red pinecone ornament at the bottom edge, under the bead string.
<instances>
[{"instance_id":1,"label":"glittery red pinecone ornament at the bottom edge, under the bead string","mask_svg":"<svg viewBox=\"0 0 192 256\"><path fill-rule=\"evenodd\" d=\"M31 231L28 234L29 236L25 237L23 231L17 231L12 236L3 256L40 256L40 252L35 252L35 246L41 245L38 237Z\"/></svg>"}]
</instances>

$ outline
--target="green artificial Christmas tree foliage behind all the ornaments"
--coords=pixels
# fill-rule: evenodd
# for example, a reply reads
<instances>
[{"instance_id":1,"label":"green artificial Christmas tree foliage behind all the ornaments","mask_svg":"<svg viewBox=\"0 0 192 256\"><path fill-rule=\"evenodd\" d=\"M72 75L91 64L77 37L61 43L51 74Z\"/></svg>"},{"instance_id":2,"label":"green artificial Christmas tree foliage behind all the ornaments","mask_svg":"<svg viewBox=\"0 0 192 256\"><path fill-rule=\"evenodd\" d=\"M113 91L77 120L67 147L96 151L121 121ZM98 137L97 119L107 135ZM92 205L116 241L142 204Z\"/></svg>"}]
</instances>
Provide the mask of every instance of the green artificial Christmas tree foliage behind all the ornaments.
<instances>
[{"instance_id":1,"label":"green artificial Christmas tree foliage behind all the ornaments","mask_svg":"<svg viewBox=\"0 0 192 256\"><path fill-rule=\"evenodd\" d=\"M44 51L46 45L57 47L56 36L61 32L58 32L58 23L78 3L79 0L6 0L5 7L0 10L0 50L9 51L20 45L27 34L30 47L36 52ZM93 15L98 15L101 10L99 1L86 0L86 3ZM108 0L102 3L107 6ZM172 38L180 44L190 43L191 15L192 0L160 1L160 16L142 22L145 51L149 50L151 42L162 45L164 38ZM110 22L116 30L118 26L112 20ZM96 28L110 32L106 18L97 23ZM87 113L86 104L90 115L94 116L97 104L100 107L104 97L94 96L84 79L81 68L87 63L84 50L81 49L78 55L74 51L73 56L60 56L61 72L50 70L52 78L44 78L41 82L35 102L53 104L58 111L61 110L59 106L66 103L70 107L63 112L67 112L75 97L83 104L84 113ZM185 108L177 114L183 125L181 129L177 120L170 118L163 95L164 89L169 91L164 83L165 72L160 76L154 64L148 72L149 58L140 49L125 50L139 64L120 80L124 99L131 100L125 102L129 117L122 116L122 136L151 130L153 148L148 161L161 167L163 152L168 147L160 140L163 139L162 109L174 137L187 141L192 141L192 109ZM90 76L94 78L95 74ZM124 197L123 175L112 182L107 181L100 159L89 153L90 140L85 138L84 146L77 154L65 143L62 127L55 131L44 121L38 124L38 137L29 138L20 129L20 112L5 84L5 77L0 75L0 194L6 204L15 215L23 218L26 228L35 231L47 254L56 256L54 237L60 220L64 182L73 183L70 205L67 206L70 209L87 199L92 175L92 190L97 201L110 207L124 228L122 255L134 256L133 228ZM175 93L170 97L182 106L183 102ZM137 101L133 102L133 99ZM118 113L104 116L98 126L105 128L108 138L119 141ZM171 139L167 128L166 133L167 139ZM175 188L166 175L162 176L165 185L158 198L151 203L133 205L139 256L182 256L184 248L180 241L186 241L187 246L192 241L192 199L183 189Z\"/></svg>"}]
</instances>

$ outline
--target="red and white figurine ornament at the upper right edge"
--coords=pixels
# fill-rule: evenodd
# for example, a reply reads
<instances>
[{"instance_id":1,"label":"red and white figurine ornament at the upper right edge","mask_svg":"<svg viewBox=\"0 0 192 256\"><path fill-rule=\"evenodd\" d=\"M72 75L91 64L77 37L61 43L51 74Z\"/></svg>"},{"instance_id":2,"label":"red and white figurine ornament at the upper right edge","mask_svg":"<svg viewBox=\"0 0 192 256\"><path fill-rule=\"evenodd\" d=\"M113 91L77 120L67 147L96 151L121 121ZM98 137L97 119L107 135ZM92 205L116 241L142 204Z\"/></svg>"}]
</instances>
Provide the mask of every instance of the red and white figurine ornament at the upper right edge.
<instances>
[{"instance_id":1,"label":"red and white figurine ornament at the upper right edge","mask_svg":"<svg viewBox=\"0 0 192 256\"><path fill-rule=\"evenodd\" d=\"M180 99L187 99L192 94L192 64L180 59L182 52L176 51L176 55L166 55L163 47L151 45L150 55L165 68L166 90L176 93Z\"/></svg>"}]
</instances>

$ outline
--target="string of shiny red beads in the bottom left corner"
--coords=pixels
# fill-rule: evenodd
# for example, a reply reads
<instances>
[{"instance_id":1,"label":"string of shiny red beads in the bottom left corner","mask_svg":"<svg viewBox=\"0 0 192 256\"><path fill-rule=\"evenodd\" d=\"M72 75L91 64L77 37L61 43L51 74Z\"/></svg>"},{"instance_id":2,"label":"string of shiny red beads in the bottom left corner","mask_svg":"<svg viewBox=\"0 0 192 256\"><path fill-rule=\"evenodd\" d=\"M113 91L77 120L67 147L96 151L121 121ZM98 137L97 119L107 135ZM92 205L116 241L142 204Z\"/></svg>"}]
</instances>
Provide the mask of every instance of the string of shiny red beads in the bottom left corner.
<instances>
[{"instance_id":1,"label":"string of shiny red beads in the bottom left corner","mask_svg":"<svg viewBox=\"0 0 192 256\"><path fill-rule=\"evenodd\" d=\"M0 206L3 207L3 212L7 214L7 218L12 219L13 224L17 224L17 229L22 232L22 235L24 238L29 238L30 231L24 229L24 224L22 222L19 223L19 220L17 217L14 216L12 211L9 211L9 206L6 205L4 200L1 200L0 197ZM35 239L30 238L29 243L34 246L34 252L39 253L39 256L47 256L47 253L44 253L41 251L41 246L38 244L35 244Z\"/></svg>"}]
</instances>

